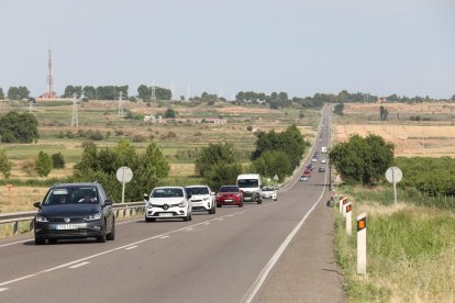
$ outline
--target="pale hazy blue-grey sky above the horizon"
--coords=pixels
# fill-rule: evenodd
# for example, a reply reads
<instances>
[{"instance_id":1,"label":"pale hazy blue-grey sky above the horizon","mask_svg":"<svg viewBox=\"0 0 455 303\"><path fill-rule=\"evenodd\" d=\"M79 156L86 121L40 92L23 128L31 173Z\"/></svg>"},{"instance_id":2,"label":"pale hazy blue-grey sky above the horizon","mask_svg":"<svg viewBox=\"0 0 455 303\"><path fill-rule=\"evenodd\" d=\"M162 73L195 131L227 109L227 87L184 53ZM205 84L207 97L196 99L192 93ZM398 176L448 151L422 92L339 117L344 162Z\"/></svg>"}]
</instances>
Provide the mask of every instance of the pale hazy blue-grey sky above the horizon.
<instances>
[{"instance_id":1,"label":"pale hazy blue-grey sky above the horizon","mask_svg":"<svg viewBox=\"0 0 455 303\"><path fill-rule=\"evenodd\" d=\"M454 0L0 0L0 87L455 94Z\"/></svg>"}]
</instances>

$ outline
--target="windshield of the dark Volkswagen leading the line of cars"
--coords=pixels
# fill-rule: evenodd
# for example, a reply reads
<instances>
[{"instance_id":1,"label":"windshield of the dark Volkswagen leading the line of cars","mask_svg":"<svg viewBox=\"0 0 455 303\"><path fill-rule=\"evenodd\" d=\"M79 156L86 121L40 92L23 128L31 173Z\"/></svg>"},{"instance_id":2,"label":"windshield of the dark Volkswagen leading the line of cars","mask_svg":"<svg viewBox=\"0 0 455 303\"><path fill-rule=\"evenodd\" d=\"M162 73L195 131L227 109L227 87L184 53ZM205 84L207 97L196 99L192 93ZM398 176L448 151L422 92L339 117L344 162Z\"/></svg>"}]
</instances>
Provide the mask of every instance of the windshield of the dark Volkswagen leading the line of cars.
<instances>
[{"instance_id":1,"label":"windshield of the dark Volkswagen leading the line of cars","mask_svg":"<svg viewBox=\"0 0 455 303\"><path fill-rule=\"evenodd\" d=\"M51 189L44 205L98 203L98 201L95 187L68 187Z\"/></svg>"}]
</instances>

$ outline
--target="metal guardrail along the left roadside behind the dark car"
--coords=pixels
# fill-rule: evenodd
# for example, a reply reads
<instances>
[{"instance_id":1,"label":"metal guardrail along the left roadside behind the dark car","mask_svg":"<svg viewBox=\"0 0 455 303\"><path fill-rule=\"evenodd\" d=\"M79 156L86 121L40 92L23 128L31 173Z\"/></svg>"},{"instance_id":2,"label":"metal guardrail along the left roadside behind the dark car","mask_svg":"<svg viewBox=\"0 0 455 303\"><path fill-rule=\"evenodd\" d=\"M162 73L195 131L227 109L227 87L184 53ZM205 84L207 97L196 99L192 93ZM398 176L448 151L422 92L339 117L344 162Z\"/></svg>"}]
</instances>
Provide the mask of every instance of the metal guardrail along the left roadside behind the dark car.
<instances>
[{"instance_id":1,"label":"metal guardrail along the left roadside behind the dark car","mask_svg":"<svg viewBox=\"0 0 455 303\"><path fill-rule=\"evenodd\" d=\"M134 212L138 214L144 210L144 202L114 203L112 209L118 218L120 214L122 214L122 217L131 216ZM19 222L30 221L29 229L33 229L33 218L35 215L35 211L0 214L0 225L12 223L13 234L15 235L19 232Z\"/></svg>"}]
</instances>

